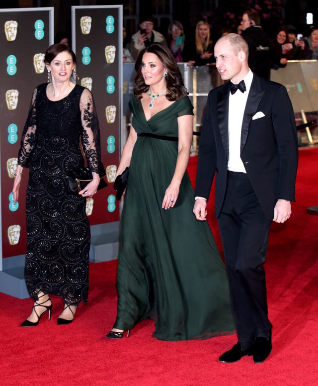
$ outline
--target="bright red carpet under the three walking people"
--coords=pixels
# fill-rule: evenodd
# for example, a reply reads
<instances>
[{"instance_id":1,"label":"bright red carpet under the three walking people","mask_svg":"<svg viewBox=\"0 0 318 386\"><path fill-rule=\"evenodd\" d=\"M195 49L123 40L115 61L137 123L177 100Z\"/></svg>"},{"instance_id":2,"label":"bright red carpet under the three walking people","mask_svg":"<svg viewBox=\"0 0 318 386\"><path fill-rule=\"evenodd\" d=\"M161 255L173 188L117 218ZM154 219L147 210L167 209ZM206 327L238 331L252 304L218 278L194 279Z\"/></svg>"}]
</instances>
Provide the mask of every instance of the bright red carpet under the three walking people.
<instances>
[{"instance_id":1,"label":"bright red carpet under the three walking people","mask_svg":"<svg viewBox=\"0 0 318 386\"><path fill-rule=\"evenodd\" d=\"M191 158L192 181L195 168ZM20 328L31 300L0 294L0 385L318 385L318 216L306 212L318 205L317 181L318 149L301 149L292 217L271 230L266 273L273 351L263 364L251 357L218 362L235 335L163 342L151 337L152 321L140 323L129 339L105 339L116 312L113 261L90 265L90 301L67 326L56 324L63 305L54 298L51 321L43 316L37 327ZM213 215L211 206L209 221L219 240Z\"/></svg>"}]
</instances>

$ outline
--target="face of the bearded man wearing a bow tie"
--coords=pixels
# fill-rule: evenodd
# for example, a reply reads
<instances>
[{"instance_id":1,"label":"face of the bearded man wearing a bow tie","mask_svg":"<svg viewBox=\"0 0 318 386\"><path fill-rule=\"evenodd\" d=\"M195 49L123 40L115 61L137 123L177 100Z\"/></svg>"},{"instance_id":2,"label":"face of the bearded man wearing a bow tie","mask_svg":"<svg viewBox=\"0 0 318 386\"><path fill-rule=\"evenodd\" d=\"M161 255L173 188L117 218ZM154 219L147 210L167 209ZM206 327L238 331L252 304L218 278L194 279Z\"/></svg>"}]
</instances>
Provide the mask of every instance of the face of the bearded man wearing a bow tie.
<instances>
[{"instance_id":1,"label":"face of the bearded man wearing a bow tie","mask_svg":"<svg viewBox=\"0 0 318 386\"><path fill-rule=\"evenodd\" d=\"M222 39L216 43L214 55L216 68L223 80L232 79L234 83L239 83L243 79L243 77L241 78L242 62L227 39Z\"/></svg>"}]
</instances>

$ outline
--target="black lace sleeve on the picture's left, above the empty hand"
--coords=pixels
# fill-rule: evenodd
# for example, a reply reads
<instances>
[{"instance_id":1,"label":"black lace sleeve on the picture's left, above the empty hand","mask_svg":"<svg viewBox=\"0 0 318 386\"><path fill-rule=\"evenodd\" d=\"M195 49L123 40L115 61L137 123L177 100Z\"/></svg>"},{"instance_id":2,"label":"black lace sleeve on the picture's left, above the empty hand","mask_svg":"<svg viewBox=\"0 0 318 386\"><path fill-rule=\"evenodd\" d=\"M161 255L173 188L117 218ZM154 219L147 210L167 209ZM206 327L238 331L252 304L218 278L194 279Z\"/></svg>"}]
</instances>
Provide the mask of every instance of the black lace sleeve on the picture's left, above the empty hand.
<instances>
[{"instance_id":1,"label":"black lace sleeve on the picture's left, above the empty hand","mask_svg":"<svg viewBox=\"0 0 318 386\"><path fill-rule=\"evenodd\" d=\"M20 150L18 153L18 165L23 168L29 168L32 159L32 152L36 144L36 110L35 98L37 88L33 91L31 105L29 108L28 117L26 119L20 142Z\"/></svg>"}]
</instances>

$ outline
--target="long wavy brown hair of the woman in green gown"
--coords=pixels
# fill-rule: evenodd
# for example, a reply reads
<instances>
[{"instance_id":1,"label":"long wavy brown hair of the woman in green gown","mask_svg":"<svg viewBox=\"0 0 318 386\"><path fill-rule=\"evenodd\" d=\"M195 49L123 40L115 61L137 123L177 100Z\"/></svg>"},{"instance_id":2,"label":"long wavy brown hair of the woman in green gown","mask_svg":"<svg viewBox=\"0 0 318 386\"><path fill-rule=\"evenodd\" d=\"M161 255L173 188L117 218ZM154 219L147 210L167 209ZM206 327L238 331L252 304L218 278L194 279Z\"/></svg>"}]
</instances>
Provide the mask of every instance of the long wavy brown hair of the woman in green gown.
<instances>
[{"instance_id":1,"label":"long wavy brown hair of the woman in green gown","mask_svg":"<svg viewBox=\"0 0 318 386\"><path fill-rule=\"evenodd\" d=\"M167 93L165 97L167 98L167 100L172 101L185 97L188 93L187 89L184 87L180 70L174 60L170 49L166 45L163 45L161 43L152 43L143 51L141 51L141 53L138 55L138 58L135 63L135 70L137 75L135 78L134 94L136 95L136 97L141 99L142 94L147 93L149 91L149 86L146 85L143 74L141 73L143 65L143 56L146 52L157 55L160 62L168 70L167 76L165 78L167 88Z\"/></svg>"}]
</instances>

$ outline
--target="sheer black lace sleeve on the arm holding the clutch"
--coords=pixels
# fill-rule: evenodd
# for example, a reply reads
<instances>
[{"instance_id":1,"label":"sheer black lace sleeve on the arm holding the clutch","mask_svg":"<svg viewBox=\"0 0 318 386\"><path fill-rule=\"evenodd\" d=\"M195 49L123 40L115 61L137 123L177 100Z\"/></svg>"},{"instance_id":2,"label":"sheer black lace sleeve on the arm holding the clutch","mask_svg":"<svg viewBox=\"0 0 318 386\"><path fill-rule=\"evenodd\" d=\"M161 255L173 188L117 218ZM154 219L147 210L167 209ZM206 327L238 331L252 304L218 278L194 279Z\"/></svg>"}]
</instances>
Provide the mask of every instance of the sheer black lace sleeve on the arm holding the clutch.
<instances>
[{"instance_id":1,"label":"sheer black lace sleeve on the arm holding the clutch","mask_svg":"<svg viewBox=\"0 0 318 386\"><path fill-rule=\"evenodd\" d=\"M93 97L84 89L80 97L81 143L91 172L101 173L99 123Z\"/></svg>"}]
</instances>

